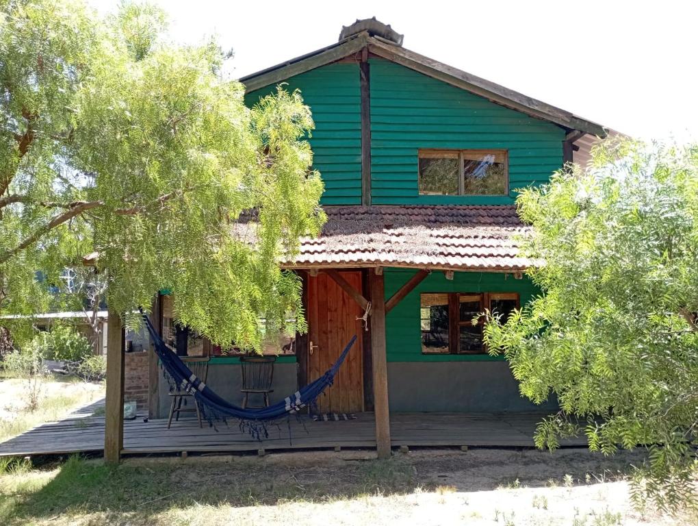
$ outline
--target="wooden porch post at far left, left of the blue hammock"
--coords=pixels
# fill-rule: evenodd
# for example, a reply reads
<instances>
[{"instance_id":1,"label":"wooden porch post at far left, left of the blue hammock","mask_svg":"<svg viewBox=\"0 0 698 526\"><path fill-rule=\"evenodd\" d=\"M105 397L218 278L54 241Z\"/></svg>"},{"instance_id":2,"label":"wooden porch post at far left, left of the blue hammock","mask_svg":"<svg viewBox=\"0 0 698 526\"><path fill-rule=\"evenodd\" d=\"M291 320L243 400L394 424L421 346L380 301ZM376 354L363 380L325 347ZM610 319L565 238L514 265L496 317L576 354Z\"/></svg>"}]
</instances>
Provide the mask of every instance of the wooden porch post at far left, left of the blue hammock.
<instances>
[{"instance_id":1,"label":"wooden porch post at far left, left of the blue hammock","mask_svg":"<svg viewBox=\"0 0 698 526\"><path fill-rule=\"evenodd\" d=\"M104 460L117 464L124 448L124 333L121 317L109 309L107 320L107 389Z\"/></svg>"}]
</instances>

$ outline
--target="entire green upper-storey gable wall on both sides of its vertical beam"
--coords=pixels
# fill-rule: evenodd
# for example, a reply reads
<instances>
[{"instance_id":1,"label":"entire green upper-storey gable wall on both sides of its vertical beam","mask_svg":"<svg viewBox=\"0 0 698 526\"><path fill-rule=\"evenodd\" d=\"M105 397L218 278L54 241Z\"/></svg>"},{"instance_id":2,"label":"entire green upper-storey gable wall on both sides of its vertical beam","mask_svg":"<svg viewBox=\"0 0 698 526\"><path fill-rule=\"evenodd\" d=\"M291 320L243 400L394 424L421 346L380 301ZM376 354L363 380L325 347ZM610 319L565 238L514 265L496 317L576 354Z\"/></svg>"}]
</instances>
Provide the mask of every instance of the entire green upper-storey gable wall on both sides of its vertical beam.
<instances>
[{"instance_id":1,"label":"entire green upper-storey gable wall on both sides of its vertical beam","mask_svg":"<svg viewBox=\"0 0 698 526\"><path fill-rule=\"evenodd\" d=\"M329 64L287 80L311 107L315 168L324 205L361 204L361 99L357 64ZM252 105L274 86L246 95ZM371 59L373 204L514 202L515 189L546 182L563 164L563 129L392 62ZM419 148L507 149L509 196L419 196Z\"/></svg>"}]
</instances>

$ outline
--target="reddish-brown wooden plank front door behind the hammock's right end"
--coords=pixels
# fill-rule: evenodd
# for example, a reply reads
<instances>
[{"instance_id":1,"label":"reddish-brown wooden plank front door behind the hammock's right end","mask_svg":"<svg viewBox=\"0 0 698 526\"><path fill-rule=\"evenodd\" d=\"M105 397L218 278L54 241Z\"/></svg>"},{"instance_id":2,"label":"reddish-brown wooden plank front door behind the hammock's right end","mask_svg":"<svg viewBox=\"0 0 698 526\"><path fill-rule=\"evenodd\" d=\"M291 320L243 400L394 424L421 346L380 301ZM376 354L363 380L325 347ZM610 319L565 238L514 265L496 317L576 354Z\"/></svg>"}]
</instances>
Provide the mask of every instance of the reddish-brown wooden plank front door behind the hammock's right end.
<instances>
[{"instance_id":1,"label":"reddish-brown wooden plank front door behind the hammock's right end","mask_svg":"<svg viewBox=\"0 0 698 526\"><path fill-rule=\"evenodd\" d=\"M361 272L341 272L357 291L362 290ZM334 384L318 398L322 413L352 413L364 410L362 350L363 311L350 296L324 272L308 279L308 380L329 369L349 340L357 341L339 368ZM311 346L312 342L312 346Z\"/></svg>"}]
</instances>

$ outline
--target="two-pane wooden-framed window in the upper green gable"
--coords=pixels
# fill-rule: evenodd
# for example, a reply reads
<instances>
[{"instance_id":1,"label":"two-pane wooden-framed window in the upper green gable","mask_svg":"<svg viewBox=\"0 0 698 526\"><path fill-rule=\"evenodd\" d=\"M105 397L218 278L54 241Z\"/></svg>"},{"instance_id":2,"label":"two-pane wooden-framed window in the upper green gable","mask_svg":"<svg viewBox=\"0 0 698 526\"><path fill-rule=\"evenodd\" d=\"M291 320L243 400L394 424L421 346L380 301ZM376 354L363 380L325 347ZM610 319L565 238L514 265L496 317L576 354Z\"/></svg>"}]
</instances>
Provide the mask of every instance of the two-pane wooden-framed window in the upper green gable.
<instances>
[{"instance_id":1,"label":"two-pane wooden-framed window in the upper green gable","mask_svg":"<svg viewBox=\"0 0 698 526\"><path fill-rule=\"evenodd\" d=\"M505 196L505 149L420 149L419 193L426 196Z\"/></svg>"}]
</instances>

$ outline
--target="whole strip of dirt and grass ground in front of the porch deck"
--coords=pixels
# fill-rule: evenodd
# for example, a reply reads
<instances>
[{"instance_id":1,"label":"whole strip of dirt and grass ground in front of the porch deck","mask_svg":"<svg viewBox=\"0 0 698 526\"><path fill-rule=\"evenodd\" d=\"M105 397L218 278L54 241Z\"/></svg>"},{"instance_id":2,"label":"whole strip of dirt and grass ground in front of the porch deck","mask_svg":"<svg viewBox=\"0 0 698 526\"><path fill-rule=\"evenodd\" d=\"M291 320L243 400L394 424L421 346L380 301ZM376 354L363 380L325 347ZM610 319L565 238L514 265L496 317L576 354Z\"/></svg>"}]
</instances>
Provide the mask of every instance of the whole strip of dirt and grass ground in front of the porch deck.
<instances>
[{"instance_id":1,"label":"whole strip of dirt and grass ground in front of the porch deck","mask_svg":"<svg viewBox=\"0 0 698 526\"><path fill-rule=\"evenodd\" d=\"M387 461L369 451L130 458L114 469L73 459L0 476L0 523L698 525L695 512L632 508L627 475L642 460L584 449L423 450Z\"/></svg>"}]
</instances>

